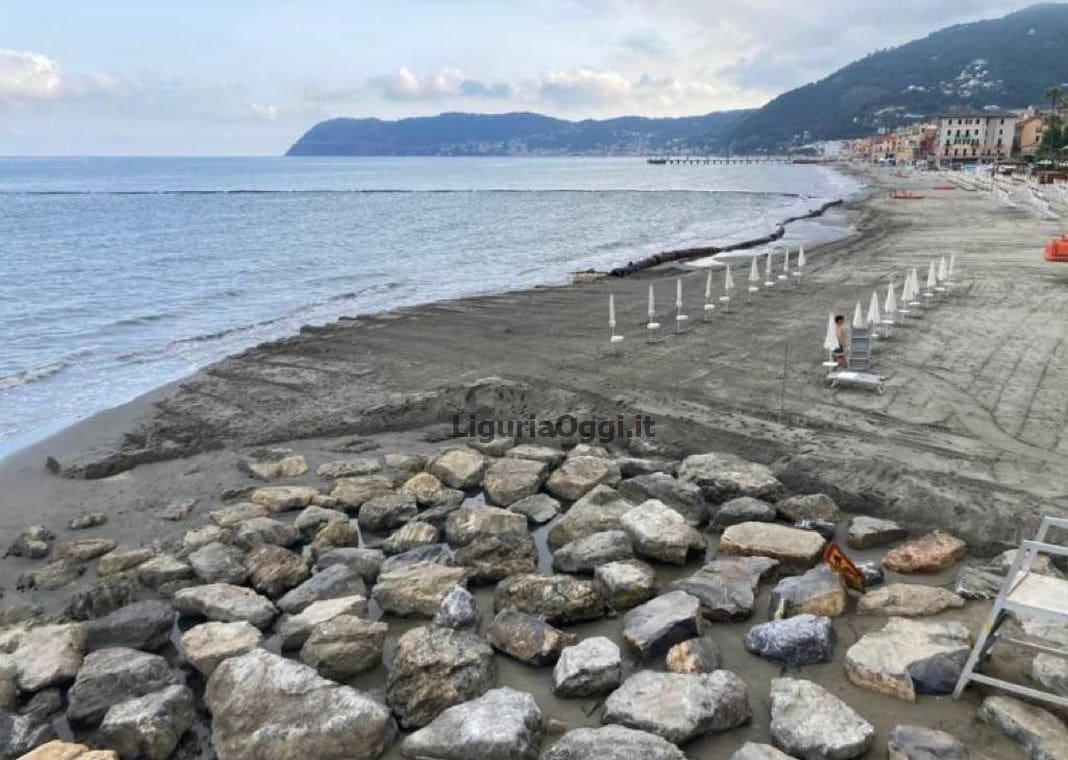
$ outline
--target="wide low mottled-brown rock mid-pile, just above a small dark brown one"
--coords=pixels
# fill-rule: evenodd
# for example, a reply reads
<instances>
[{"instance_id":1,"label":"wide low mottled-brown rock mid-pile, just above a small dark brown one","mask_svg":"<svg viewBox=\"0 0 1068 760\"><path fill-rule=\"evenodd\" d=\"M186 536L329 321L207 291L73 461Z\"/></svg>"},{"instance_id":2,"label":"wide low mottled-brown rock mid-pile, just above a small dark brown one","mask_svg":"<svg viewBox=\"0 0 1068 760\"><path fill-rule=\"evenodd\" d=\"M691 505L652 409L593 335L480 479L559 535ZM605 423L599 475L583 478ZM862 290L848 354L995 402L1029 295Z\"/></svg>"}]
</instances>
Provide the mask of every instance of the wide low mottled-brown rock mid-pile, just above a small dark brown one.
<instances>
[{"instance_id":1,"label":"wide low mottled-brown rock mid-pile, just above a small dark brown one","mask_svg":"<svg viewBox=\"0 0 1068 760\"><path fill-rule=\"evenodd\" d=\"M593 583L570 575L513 575L501 581L493 609L515 609L553 624L596 620L604 605Z\"/></svg>"}]
</instances>

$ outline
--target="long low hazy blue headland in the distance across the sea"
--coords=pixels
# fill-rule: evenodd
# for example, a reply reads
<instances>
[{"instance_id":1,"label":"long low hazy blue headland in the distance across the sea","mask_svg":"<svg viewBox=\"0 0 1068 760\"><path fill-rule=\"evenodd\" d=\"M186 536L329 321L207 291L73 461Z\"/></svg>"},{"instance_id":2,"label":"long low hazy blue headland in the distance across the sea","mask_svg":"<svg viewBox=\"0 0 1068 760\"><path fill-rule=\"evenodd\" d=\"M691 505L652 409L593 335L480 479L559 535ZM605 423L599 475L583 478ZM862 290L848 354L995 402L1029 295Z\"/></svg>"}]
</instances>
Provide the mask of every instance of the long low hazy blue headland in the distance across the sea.
<instances>
[{"instance_id":1,"label":"long low hazy blue headland in the distance across the sea","mask_svg":"<svg viewBox=\"0 0 1068 760\"><path fill-rule=\"evenodd\" d=\"M634 155L711 147L750 111L682 118L569 122L537 113L442 113L387 122L331 118L309 129L286 156Z\"/></svg>"}]
</instances>

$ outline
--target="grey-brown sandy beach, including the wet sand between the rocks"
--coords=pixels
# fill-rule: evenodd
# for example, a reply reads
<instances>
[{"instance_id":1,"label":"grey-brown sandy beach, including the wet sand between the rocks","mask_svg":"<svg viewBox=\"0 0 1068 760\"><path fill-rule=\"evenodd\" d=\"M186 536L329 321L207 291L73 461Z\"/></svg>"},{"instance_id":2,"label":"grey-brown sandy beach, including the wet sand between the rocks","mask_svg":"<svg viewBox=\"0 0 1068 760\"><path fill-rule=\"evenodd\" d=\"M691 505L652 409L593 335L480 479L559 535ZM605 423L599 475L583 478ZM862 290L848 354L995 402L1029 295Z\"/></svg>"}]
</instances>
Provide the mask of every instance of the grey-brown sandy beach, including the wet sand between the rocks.
<instances>
[{"instance_id":1,"label":"grey-brown sandy beach, including the wet sand between the rocks","mask_svg":"<svg viewBox=\"0 0 1068 760\"><path fill-rule=\"evenodd\" d=\"M864 176L868 195L844 211L855 236L810 252L802 284L773 288L751 304L736 295L728 314L707 322L701 321L705 272L665 268L360 316L230 358L5 460L0 541L7 545L27 526L43 524L61 539L173 545L222 505L224 491L263 485L237 464L268 444L292 448L311 464L286 485L326 488L314 474L321 462L388 452L433 455L456 443L444 440L454 414L642 414L656 421L659 456L738 455L769 465L791 493L831 495L847 514L895 520L914 536L951 531L969 543L973 559L1012 548L1041 516L1068 516L1068 267L1041 257L1045 241L1064 231L987 193L936 190L941 179L933 173L908 180L924 195L918 201L890 197L900 179ZM851 315L857 302L866 312L873 290L881 302L889 282L899 292L907 270L917 268L923 280L928 263L943 254L956 255L952 297L876 343L875 370L890 378L886 392L830 390L820 367L828 314ZM734 268L742 291L745 274L745 267ZM674 334L679 276L690 320ZM722 273L713 276L719 295ZM650 283L665 333L656 343L645 339L644 328ZM608 351L610 294L625 336L618 354ZM354 439L374 448L337 453ZM65 477L46 469L48 457ZM183 498L197 500L189 518L157 519ZM105 512L108 522L67 529L74 517L92 511ZM546 533L535 531L544 570ZM878 559L882 553L855 555ZM658 565L658 588L701 565ZM16 591L19 576L36 567L40 561L20 557L0 561L6 606L37 603L59 612L92 582L88 573L58 591ZM954 576L888 573L888 582L946 585ZM1004 734L974 722L976 690L959 702L943 696L907 702L851 684L841 654L885 618L842 618L835 661L803 670L747 653L741 638L752 622L767 619L769 593L761 588L753 620L711 628L725 667L749 685L752 724L688 744L687 757L727 757L745 741L768 741L768 684L784 672L803 672L875 725L877 740L864 757L884 757L886 735L900 723L951 731L991 758L1024 757ZM488 621L492 588L476 596ZM988 609L970 602L939 619L975 630ZM389 623L387 656L396 637L419 624ZM606 619L567 630L622 644L621 627ZM568 727L599 725L597 699L559 699L548 668L496 659L499 682L531 692L546 717ZM994 666L1017 672L1025 663L1006 656ZM357 682L381 690L384 669ZM195 746L186 750L198 757ZM384 757L400 755L394 746Z\"/></svg>"}]
</instances>

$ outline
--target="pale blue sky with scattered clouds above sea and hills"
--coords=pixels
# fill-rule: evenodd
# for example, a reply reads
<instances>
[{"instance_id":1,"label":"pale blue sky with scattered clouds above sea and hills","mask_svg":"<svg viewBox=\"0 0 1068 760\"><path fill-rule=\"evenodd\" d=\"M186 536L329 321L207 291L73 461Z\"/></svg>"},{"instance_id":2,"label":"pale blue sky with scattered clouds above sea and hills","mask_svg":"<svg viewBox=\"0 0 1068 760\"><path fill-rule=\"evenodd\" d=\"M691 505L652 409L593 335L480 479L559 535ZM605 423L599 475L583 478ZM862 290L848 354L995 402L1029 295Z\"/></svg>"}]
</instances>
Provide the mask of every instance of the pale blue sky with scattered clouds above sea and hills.
<instances>
[{"instance_id":1,"label":"pale blue sky with scattered clouds above sea and hills","mask_svg":"<svg viewBox=\"0 0 1068 760\"><path fill-rule=\"evenodd\" d=\"M0 0L0 156L279 155L334 116L758 107L1014 0Z\"/></svg>"}]
</instances>

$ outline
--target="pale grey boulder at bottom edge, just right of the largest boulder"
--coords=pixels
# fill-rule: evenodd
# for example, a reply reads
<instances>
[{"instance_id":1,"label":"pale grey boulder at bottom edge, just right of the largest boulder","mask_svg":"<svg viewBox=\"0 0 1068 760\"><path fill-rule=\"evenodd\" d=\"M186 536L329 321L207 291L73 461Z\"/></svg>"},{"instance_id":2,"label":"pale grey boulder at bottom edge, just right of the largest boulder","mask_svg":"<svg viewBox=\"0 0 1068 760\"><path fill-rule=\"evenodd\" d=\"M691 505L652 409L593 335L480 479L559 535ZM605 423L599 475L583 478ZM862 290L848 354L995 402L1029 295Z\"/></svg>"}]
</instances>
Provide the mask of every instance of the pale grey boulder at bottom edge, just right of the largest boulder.
<instances>
[{"instance_id":1,"label":"pale grey boulder at bottom edge, just right of the largest boulder","mask_svg":"<svg viewBox=\"0 0 1068 760\"><path fill-rule=\"evenodd\" d=\"M400 751L420 760L535 760L541 732L534 697L492 688L443 711L405 739Z\"/></svg>"}]
</instances>

